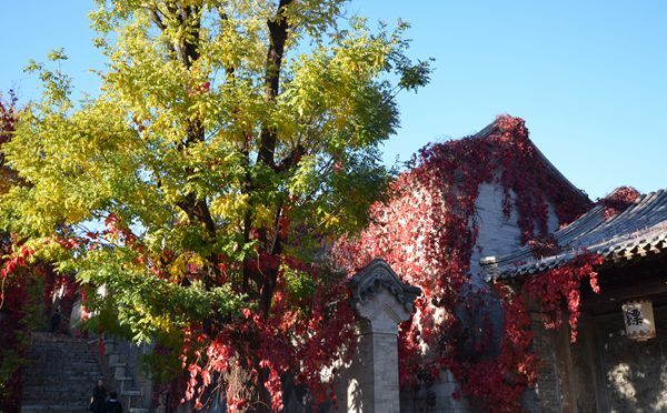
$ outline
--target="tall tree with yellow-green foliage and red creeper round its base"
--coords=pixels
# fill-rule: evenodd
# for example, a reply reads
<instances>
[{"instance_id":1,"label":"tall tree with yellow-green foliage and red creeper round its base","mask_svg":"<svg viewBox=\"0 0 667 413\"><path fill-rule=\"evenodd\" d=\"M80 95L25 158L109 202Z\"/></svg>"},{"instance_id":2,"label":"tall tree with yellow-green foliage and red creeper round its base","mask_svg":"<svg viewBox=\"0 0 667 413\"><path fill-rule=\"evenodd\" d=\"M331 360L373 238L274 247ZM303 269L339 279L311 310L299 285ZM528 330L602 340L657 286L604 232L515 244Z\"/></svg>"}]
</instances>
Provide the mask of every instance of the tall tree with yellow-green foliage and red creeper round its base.
<instances>
[{"instance_id":1,"label":"tall tree with yellow-green foliage and red creeper round its base","mask_svg":"<svg viewBox=\"0 0 667 413\"><path fill-rule=\"evenodd\" d=\"M230 409L279 410L287 374L321 400L352 350L321 251L365 224L395 95L430 68L405 23L374 31L345 3L98 0L99 97L29 67L43 98L3 149L31 184L1 197L0 228L112 291L97 322L180 355L198 405L218 384Z\"/></svg>"}]
</instances>

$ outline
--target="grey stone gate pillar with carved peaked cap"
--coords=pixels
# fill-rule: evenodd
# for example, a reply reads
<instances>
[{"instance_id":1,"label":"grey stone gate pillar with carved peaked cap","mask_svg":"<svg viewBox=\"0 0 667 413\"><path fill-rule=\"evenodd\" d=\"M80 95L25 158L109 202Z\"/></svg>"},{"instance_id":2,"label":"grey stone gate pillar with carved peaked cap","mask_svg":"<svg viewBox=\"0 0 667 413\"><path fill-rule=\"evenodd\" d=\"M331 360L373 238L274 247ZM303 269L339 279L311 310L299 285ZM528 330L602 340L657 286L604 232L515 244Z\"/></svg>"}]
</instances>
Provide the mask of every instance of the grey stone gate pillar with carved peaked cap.
<instances>
[{"instance_id":1,"label":"grey stone gate pillar with carved peaked cap","mask_svg":"<svg viewBox=\"0 0 667 413\"><path fill-rule=\"evenodd\" d=\"M410 318L421 290L402 283L384 260L374 260L357 273L350 289L360 336L357 354L342 374L339 405L348 412L398 413L398 324Z\"/></svg>"}]
</instances>

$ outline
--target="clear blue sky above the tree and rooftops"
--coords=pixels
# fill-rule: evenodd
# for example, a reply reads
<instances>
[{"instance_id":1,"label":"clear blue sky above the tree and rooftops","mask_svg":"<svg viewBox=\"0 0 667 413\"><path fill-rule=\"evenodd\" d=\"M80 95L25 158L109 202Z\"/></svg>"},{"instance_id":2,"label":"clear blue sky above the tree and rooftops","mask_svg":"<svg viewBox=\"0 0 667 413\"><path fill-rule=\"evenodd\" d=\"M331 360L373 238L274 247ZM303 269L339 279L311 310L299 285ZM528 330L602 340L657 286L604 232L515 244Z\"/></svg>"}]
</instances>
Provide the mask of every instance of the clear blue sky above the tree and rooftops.
<instances>
[{"instance_id":1,"label":"clear blue sky above the tree and rooftops","mask_svg":"<svg viewBox=\"0 0 667 413\"><path fill-rule=\"evenodd\" d=\"M63 47L77 89L94 92L88 69L103 60L90 41L91 9L83 0L7 1L0 91L36 99L22 68ZM509 113L594 199L623 184L667 188L667 2L352 0L348 10L409 21L410 54L436 59L431 83L399 98L401 129L386 162Z\"/></svg>"}]
</instances>

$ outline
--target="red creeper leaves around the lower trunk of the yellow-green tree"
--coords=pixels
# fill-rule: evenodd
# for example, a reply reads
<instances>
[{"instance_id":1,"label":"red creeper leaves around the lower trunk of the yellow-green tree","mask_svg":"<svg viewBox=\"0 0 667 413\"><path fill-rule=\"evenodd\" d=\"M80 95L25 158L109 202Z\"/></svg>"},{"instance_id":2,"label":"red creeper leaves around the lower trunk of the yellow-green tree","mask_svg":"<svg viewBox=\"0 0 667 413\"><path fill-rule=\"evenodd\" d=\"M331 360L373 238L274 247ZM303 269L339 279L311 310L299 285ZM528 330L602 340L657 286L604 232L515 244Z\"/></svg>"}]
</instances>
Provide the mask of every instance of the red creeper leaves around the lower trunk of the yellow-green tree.
<instances>
[{"instance_id":1,"label":"red creeper leaves around the lower trunk of the yellow-green tree","mask_svg":"<svg viewBox=\"0 0 667 413\"><path fill-rule=\"evenodd\" d=\"M259 266L300 265L293 259L259 260ZM312 274L312 276L317 276ZM355 313L349 305L345 283L320 288L306 305L292 305L280 274L271 311L262 314L249 308L241 316L222 326L215 336L201 326L192 326L181 360L189 372L186 399L201 404L205 390L213 377L220 377L229 411L252 409L261 402L248 394L248 389L263 384L272 411L283 409L282 380L293 375L305 384L315 404L336 400L332 382L322 377L322 370L334 369L339 360L350 360L355 350ZM241 374L239 374L241 372ZM242 376L241 383L229 377ZM226 379L227 377L227 379Z\"/></svg>"}]
</instances>

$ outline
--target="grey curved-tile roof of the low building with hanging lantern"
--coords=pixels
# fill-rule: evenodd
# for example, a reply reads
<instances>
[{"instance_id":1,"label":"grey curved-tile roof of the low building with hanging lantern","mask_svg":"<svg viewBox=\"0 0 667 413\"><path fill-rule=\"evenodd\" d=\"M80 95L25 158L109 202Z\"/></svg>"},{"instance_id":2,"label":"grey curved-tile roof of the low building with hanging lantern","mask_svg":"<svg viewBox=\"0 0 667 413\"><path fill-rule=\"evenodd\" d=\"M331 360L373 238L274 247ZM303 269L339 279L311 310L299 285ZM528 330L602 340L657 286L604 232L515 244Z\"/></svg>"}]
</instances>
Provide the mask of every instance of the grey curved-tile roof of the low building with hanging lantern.
<instances>
[{"instance_id":1,"label":"grey curved-tile roof of the low building with hanging lantern","mask_svg":"<svg viewBox=\"0 0 667 413\"><path fill-rule=\"evenodd\" d=\"M559 253L535 258L529 246L504 256L487 256L481 265L487 279L530 275L561 266L584 251L601 254L606 261L633 260L667 252L667 190L639 197L625 211L606 218L596 205L554 235Z\"/></svg>"}]
</instances>

